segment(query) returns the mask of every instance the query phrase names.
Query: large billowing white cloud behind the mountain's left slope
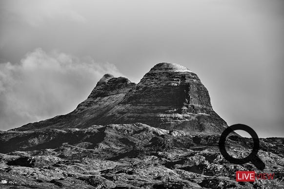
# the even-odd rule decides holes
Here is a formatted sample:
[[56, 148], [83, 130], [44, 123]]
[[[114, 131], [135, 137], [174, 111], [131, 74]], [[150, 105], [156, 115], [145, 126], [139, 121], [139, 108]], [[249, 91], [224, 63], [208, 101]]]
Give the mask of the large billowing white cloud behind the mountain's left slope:
[[41, 48], [0, 63], [0, 130], [71, 112], [106, 73], [122, 76], [113, 64]]

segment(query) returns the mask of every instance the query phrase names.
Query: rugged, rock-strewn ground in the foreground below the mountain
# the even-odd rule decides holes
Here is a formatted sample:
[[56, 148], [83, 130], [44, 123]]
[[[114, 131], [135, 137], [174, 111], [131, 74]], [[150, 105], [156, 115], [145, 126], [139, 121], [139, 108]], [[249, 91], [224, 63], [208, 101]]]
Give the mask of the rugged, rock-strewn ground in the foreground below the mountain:
[[[0, 188], [201, 189], [284, 188], [284, 138], [261, 139], [266, 168], [223, 159], [216, 133], [162, 130], [142, 123], [0, 134]], [[227, 139], [244, 157], [251, 140]], [[236, 170], [275, 173], [273, 180], [236, 182]]]

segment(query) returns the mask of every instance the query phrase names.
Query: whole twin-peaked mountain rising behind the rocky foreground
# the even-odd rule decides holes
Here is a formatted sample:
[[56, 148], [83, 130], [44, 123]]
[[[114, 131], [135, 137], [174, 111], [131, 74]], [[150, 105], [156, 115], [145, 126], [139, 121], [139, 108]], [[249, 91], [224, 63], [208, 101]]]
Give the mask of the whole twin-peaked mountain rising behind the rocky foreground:
[[213, 111], [208, 91], [195, 73], [178, 64], [159, 63], [138, 84], [106, 74], [73, 112], [14, 130], [137, 122], [188, 132], [220, 133], [227, 127]]

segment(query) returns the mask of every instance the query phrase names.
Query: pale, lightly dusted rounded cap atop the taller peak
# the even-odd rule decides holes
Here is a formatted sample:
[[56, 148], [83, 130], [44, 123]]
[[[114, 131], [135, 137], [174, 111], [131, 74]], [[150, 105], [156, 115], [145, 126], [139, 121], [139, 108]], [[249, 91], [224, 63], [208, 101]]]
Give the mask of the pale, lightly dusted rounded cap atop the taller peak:
[[175, 63], [162, 62], [151, 68], [149, 73], [159, 72], [191, 72], [188, 68]]

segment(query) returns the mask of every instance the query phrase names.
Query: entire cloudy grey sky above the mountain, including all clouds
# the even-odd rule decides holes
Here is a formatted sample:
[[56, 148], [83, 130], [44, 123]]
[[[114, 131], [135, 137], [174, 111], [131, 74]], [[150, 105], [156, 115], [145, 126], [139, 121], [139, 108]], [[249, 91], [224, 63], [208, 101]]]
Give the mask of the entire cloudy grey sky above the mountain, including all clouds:
[[172, 62], [229, 126], [284, 137], [283, 34], [283, 0], [1, 0], [0, 130], [73, 111], [106, 73], [138, 83]]

